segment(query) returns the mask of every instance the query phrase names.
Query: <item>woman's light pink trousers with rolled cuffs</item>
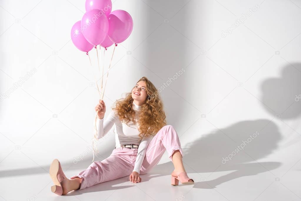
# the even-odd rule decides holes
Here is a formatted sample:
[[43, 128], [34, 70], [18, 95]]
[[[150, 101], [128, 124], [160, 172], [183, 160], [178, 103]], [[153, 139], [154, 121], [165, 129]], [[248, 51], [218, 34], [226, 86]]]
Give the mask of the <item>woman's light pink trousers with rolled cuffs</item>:
[[[180, 140], [172, 125], [163, 126], [151, 140], [146, 149], [139, 175], [146, 174], [157, 165], [165, 150], [171, 161], [175, 150], [179, 150], [183, 158]], [[70, 179], [82, 178], [78, 189], [81, 190], [105, 181], [129, 176], [134, 169], [137, 151], [138, 148], [115, 148], [108, 158], [93, 162], [87, 169]]]

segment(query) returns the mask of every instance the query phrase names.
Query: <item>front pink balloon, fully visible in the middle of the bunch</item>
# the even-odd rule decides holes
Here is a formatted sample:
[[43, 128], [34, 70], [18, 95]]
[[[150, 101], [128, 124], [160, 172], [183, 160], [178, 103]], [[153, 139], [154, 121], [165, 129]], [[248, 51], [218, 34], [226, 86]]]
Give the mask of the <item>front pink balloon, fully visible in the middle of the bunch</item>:
[[93, 45], [99, 45], [107, 36], [109, 21], [102, 11], [92, 9], [82, 17], [81, 27], [87, 41]]

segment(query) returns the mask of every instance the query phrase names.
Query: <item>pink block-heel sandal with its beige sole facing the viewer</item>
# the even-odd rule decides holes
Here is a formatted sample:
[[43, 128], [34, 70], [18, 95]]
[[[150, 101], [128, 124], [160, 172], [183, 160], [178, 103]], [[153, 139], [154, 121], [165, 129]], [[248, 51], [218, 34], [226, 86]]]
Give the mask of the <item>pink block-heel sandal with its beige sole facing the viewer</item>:
[[63, 194], [63, 188], [61, 182], [66, 178], [62, 168], [61, 163], [54, 159], [49, 168], [50, 177], [54, 183], [54, 186], [51, 186], [51, 192], [57, 195]]

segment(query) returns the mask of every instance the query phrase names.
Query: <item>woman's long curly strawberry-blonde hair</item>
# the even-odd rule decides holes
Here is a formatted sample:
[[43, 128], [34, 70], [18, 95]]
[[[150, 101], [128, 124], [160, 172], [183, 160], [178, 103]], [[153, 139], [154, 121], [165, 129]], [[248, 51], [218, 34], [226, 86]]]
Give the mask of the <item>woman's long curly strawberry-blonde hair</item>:
[[[138, 115], [139, 137], [143, 138], [143, 136], [155, 136], [157, 132], [166, 125], [166, 115], [163, 110], [163, 102], [160, 94], [154, 84], [146, 77], [140, 78], [138, 82], [140, 81], [146, 83], [147, 92], [147, 98], [145, 103], [141, 105], [141, 110], [139, 110]], [[136, 82], [136, 84], [138, 82]], [[137, 123], [135, 119], [136, 112], [132, 108], [133, 100], [132, 92], [126, 93], [126, 97], [116, 100], [114, 103], [116, 107], [112, 108], [112, 110], [117, 111], [119, 120], [126, 122], [127, 125], [130, 121], [134, 124]]]

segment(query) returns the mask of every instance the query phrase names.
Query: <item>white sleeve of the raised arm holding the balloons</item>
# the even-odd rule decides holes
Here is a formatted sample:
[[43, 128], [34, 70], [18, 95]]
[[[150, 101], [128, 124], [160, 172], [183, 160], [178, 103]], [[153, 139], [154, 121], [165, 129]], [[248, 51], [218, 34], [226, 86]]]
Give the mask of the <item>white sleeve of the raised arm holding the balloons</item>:
[[99, 119], [97, 116], [96, 120], [96, 129], [97, 129], [97, 139], [104, 137], [107, 132], [112, 128], [114, 123], [118, 120], [118, 116], [115, 113], [115, 110], [112, 110], [104, 121], [104, 118]]

